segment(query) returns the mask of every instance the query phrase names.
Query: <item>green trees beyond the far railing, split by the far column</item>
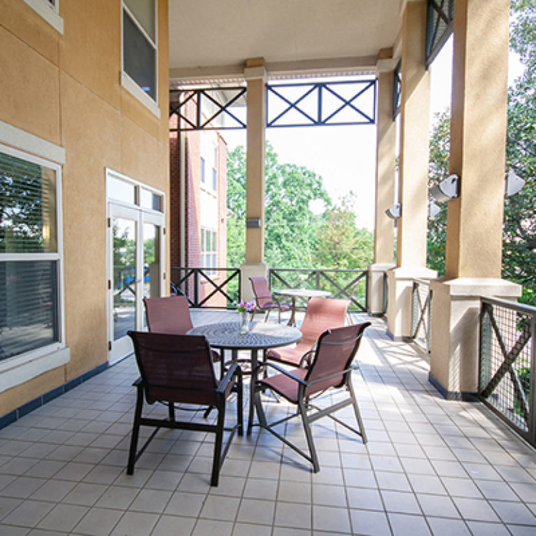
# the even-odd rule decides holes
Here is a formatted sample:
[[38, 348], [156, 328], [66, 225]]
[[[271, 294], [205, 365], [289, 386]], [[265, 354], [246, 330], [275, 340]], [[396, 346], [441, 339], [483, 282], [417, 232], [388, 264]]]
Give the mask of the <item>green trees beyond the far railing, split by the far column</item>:
[[[364, 268], [371, 262], [372, 233], [358, 230], [351, 196], [336, 207], [322, 177], [295, 164], [278, 162], [270, 144], [265, 168], [265, 259], [277, 268]], [[319, 216], [311, 202], [325, 204]], [[245, 260], [246, 154], [237, 147], [228, 155], [228, 265]]]

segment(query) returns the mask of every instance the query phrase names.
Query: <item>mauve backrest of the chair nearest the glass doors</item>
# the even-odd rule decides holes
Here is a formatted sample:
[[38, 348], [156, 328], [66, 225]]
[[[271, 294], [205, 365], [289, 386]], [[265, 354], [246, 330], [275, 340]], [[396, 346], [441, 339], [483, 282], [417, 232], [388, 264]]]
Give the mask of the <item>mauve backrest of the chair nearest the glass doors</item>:
[[144, 298], [149, 332], [184, 335], [192, 329], [188, 299], [184, 296]]

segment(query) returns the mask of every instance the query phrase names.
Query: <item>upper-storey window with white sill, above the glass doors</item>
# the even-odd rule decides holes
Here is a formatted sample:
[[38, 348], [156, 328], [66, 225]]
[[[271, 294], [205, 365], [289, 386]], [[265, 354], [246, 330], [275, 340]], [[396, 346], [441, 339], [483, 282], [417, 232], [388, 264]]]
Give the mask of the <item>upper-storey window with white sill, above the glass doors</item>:
[[157, 101], [157, 50], [155, 0], [123, 0], [122, 83], [147, 105]]

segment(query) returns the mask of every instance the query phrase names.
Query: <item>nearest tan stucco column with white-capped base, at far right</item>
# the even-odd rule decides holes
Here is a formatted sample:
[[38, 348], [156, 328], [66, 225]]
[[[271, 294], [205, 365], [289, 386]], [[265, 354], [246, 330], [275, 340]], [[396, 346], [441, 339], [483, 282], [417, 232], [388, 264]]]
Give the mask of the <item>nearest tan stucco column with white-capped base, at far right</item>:
[[445, 278], [432, 283], [430, 380], [448, 397], [478, 389], [481, 296], [516, 299], [502, 281], [509, 0], [456, 0]]

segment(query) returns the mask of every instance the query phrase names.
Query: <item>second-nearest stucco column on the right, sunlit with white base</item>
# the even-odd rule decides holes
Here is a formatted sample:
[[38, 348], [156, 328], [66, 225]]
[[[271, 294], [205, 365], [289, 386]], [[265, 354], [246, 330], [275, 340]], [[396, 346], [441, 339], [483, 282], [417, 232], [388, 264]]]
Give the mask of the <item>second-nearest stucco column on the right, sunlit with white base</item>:
[[411, 289], [415, 278], [435, 278], [426, 268], [430, 73], [426, 70], [426, 1], [405, 4], [402, 27], [400, 177], [396, 268], [388, 272], [387, 332], [411, 335]]

